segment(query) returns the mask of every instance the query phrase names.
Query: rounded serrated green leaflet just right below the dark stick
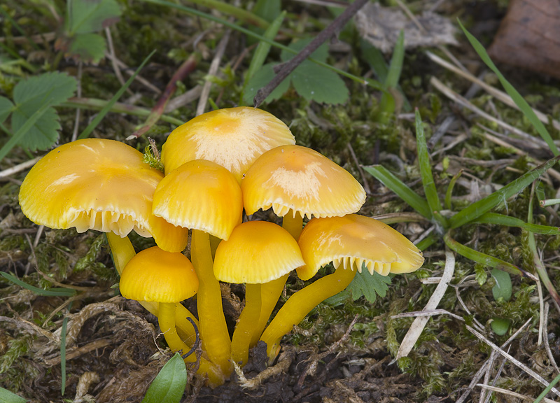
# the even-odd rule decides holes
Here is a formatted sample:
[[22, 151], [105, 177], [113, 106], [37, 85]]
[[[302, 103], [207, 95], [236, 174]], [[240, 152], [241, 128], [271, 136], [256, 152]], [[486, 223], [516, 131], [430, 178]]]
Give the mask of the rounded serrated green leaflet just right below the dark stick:
[[297, 66], [290, 77], [297, 94], [308, 101], [344, 104], [348, 100], [348, 88], [337, 73], [316, 66], [307, 60]]

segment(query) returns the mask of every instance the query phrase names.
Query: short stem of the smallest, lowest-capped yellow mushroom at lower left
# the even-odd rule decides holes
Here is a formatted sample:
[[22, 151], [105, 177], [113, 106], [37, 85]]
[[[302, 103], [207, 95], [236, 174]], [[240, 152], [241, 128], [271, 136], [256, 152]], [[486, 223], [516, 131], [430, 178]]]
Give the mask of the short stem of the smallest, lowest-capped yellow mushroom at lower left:
[[[172, 352], [180, 351], [181, 354], [188, 353], [190, 347], [183, 342], [175, 327], [175, 311], [176, 306], [181, 306], [181, 304], [175, 304], [174, 302], [160, 302], [159, 304], [159, 316], [158, 322], [160, 323], [160, 329], [162, 330], [163, 337], [167, 341], [167, 346]], [[189, 354], [183, 358], [185, 362], [196, 362], [197, 355]], [[214, 366], [208, 360], [201, 359], [200, 365], [197, 371], [199, 374], [207, 374], [210, 386], [215, 387], [222, 385], [224, 383], [224, 376], [218, 367]]]

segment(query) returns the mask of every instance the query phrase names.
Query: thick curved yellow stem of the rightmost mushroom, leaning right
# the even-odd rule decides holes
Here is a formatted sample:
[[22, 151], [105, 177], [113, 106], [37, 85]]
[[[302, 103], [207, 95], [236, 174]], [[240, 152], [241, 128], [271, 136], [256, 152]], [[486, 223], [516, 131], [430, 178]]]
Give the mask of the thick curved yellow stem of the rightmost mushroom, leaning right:
[[267, 355], [272, 363], [280, 351], [280, 341], [307, 313], [328, 297], [343, 291], [352, 281], [356, 271], [341, 265], [333, 274], [319, 278], [295, 292], [276, 313], [260, 339], [267, 344]]

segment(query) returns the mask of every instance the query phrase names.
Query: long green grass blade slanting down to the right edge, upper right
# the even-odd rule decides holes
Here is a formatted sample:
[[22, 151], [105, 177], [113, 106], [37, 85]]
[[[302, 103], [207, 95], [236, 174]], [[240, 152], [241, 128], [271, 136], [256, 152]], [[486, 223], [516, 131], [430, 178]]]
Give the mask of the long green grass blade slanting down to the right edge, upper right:
[[529, 120], [529, 122], [531, 122], [531, 125], [533, 125], [533, 127], [535, 127], [535, 129], [537, 130], [538, 134], [540, 134], [542, 139], [544, 141], [546, 141], [550, 150], [552, 151], [552, 153], [554, 153], [554, 156], [559, 155], [560, 153], [558, 151], [558, 148], [556, 148], [556, 144], [554, 144], [554, 141], [552, 141], [552, 137], [550, 136], [548, 130], [545, 127], [545, 125], [543, 125], [542, 122], [540, 120], [538, 120], [537, 115], [535, 115], [535, 112], [533, 111], [531, 106], [529, 106], [527, 101], [525, 101], [525, 99], [523, 97], [521, 97], [521, 95], [519, 94], [519, 92], [517, 92], [517, 90], [515, 90], [513, 85], [511, 85], [509, 83], [509, 81], [507, 81], [505, 79], [505, 77], [502, 75], [502, 73], [500, 73], [500, 71], [498, 70], [498, 67], [496, 67], [496, 65], [493, 64], [492, 59], [490, 59], [490, 56], [488, 55], [488, 53], [484, 49], [484, 46], [482, 46], [482, 44], [477, 40], [477, 38], [472, 36], [472, 34], [470, 34], [470, 32], [467, 31], [465, 29], [465, 27], [463, 27], [463, 24], [461, 24], [461, 21], [458, 21], [458, 23], [459, 23], [459, 26], [461, 27], [461, 29], [463, 29], [463, 32], [465, 33], [465, 36], [467, 36], [468, 41], [472, 45], [472, 48], [475, 48], [479, 57], [482, 59], [482, 61], [484, 63], [486, 63], [486, 66], [489, 66], [491, 71], [493, 71], [496, 74], [496, 76], [498, 76], [498, 80], [500, 80], [500, 83], [502, 83], [505, 92], [507, 92], [507, 94], [510, 97], [512, 97], [512, 99], [515, 102], [515, 104], [517, 105], [517, 107], [521, 110], [521, 112], [523, 112], [523, 114], [526, 116], [526, 118]]

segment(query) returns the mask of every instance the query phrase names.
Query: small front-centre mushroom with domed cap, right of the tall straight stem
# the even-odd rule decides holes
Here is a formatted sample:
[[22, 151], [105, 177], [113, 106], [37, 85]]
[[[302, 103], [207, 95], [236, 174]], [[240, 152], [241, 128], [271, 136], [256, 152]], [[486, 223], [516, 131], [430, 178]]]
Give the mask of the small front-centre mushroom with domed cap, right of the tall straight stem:
[[[262, 329], [256, 327], [261, 304], [274, 295], [263, 293], [261, 284], [274, 281], [304, 264], [300, 247], [286, 229], [266, 221], [248, 221], [233, 230], [216, 249], [214, 275], [220, 281], [245, 283], [245, 307], [232, 338], [232, 360], [245, 365], [251, 342]], [[262, 301], [262, 300], [265, 301]], [[278, 297], [274, 300], [276, 304]]]

